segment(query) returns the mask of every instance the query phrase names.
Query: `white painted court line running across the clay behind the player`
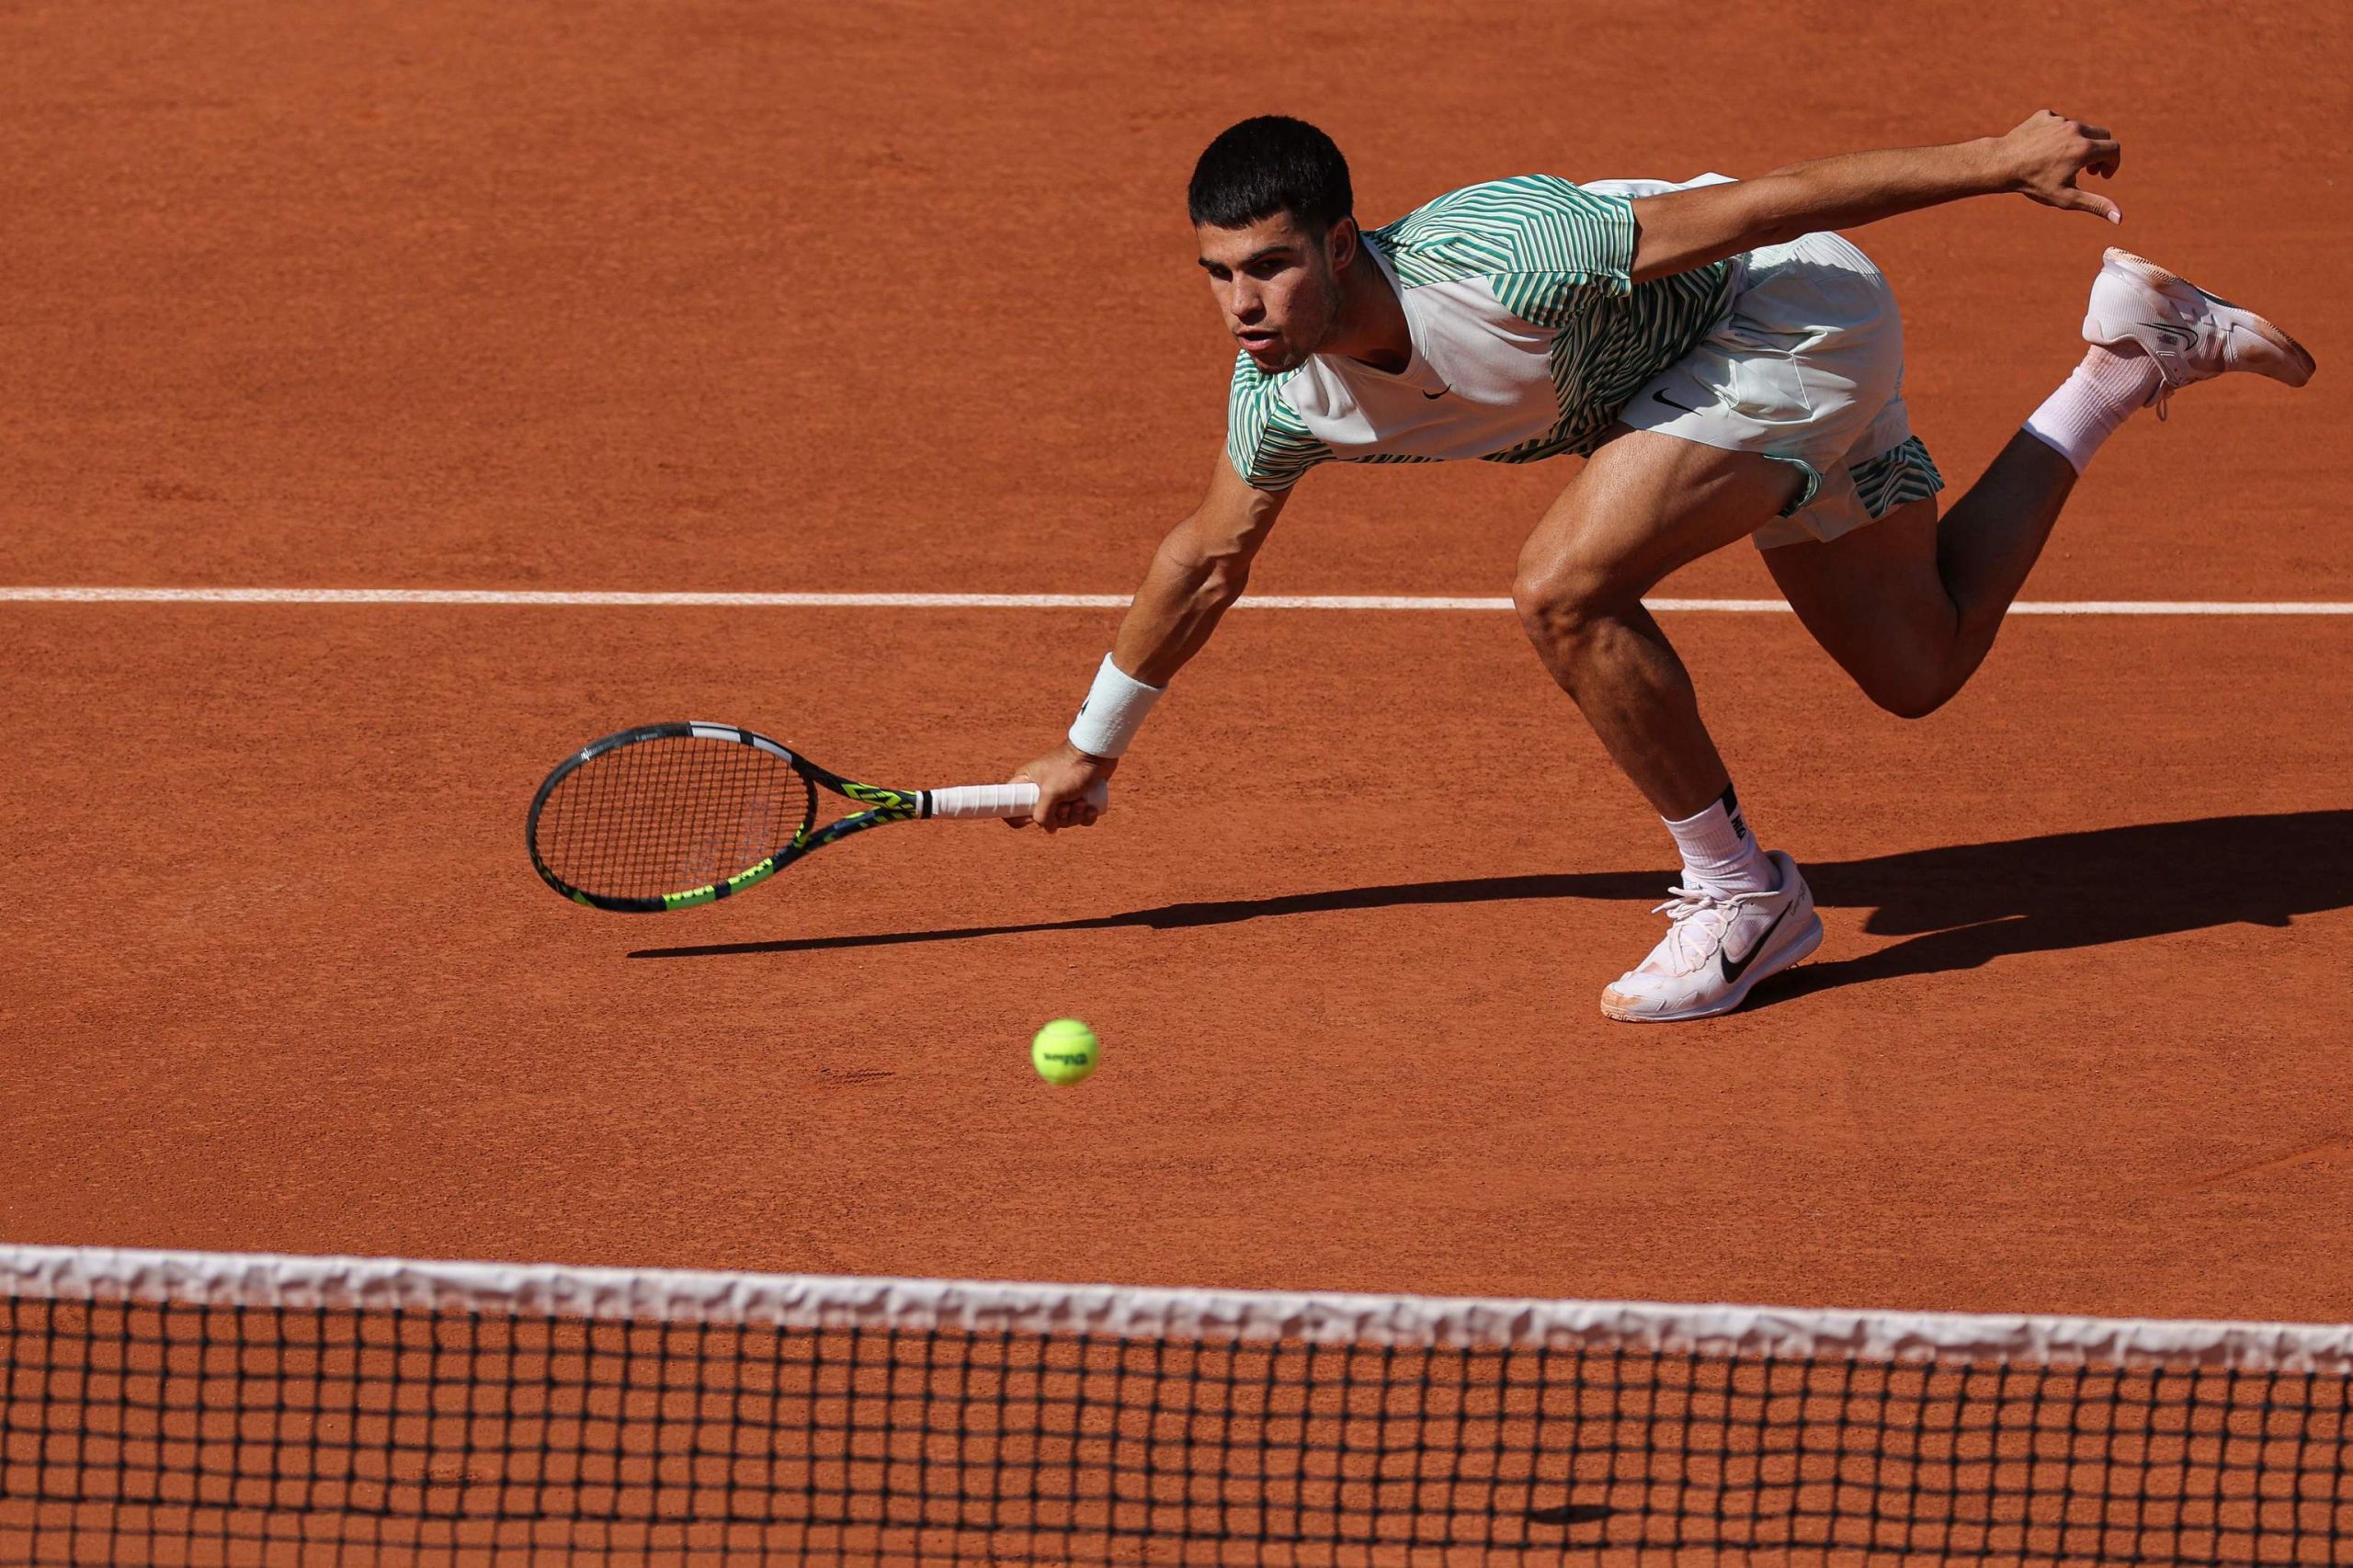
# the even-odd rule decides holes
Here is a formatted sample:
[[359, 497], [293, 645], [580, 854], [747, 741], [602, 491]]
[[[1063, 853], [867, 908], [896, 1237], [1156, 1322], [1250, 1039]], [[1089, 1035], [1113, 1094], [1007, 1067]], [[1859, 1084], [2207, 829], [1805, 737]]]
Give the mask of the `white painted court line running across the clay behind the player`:
[[[0, 589], [12, 605], [525, 605], [720, 610], [1125, 610], [1125, 593], [560, 593], [541, 589]], [[1779, 598], [1647, 598], [1652, 610], [1786, 614]], [[1417, 593], [1261, 593], [1240, 610], [1511, 610], [1508, 598]], [[2021, 600], [2012, 614], [2353, 614], [2334, 600], [2073, 598]]]

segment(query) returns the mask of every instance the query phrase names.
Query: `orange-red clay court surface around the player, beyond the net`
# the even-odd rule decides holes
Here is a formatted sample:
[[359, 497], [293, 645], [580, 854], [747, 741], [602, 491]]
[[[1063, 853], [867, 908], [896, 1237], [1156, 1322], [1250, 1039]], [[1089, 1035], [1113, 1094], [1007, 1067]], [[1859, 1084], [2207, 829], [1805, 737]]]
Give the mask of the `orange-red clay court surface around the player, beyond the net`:
[[[5, 12], [0, 582], [1127, 591], [1219, 445], [1181, 184], [1228, 120], [1325, 122], [1386, 219], [2049, 104], [2122, 132], [2122, 233], [1864, 235], [1948, 478], [2122, 240], [2322, 381], [2129, 428], [2028, 593], [2353, 598], [2332, 7], [1169, 16]], [[1501, 593], [1569, 471], [1318, 473], [1257, 586]], [[649, 921], [529, 876], [591, 735], [988, 779], [1111, 624], [0, 607], [0, 1236], [2346, 1316], [2348, 622], [2021, 622], [1904, 725], [1788, 619], [1678, 617], [1831, 928], [1692, 1029], [1593, 1010], [1666, 845], [1501, 614], [1238, 612], [1092, 836], [889, 829]], [[1026, 1062], [1061, 1012], [1080, 1090]]]

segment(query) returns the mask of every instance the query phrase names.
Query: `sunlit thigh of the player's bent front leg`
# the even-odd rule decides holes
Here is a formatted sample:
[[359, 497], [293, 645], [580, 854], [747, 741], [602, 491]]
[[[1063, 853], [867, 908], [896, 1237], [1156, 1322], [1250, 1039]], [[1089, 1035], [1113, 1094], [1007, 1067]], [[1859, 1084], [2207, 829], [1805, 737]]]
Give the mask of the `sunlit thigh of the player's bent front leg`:
[[1753, 534], [1800, 485], [1791, 464], [1755, 452], [1621, 426], [1520, 549], [1520, 607], [1529, 610], [1532, 598], [1640, 596], [1675, 567]]

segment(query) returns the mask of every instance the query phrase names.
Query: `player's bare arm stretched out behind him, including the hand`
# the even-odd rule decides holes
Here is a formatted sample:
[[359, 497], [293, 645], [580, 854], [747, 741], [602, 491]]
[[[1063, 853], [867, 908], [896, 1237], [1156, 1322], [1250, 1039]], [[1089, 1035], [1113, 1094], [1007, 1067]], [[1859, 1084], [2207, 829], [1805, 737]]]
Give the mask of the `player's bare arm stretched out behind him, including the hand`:
[[2042, 111], [2007, 137], [1842, 153], [1737, 184], [1647, 195], [1633, 202], [1633, 278], [1668, 278], [1758, 245], [1784, 245], [1800, 233], [1859, 228], [1899, 212], [2002, 191], [2115, 224], [2122, 221], [2115, 202], [2075, 188], [2075, 181], [2082, 174], [2113, 177], [2120, 158], [2106, 129]]

